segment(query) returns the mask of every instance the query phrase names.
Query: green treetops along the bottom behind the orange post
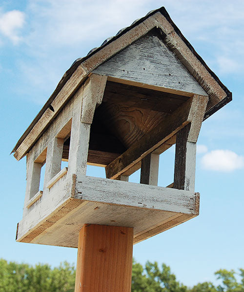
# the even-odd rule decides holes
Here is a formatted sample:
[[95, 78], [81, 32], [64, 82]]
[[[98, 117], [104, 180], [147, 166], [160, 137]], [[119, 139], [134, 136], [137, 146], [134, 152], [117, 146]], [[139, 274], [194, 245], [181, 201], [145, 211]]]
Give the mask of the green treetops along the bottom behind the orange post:
[[[133, 261], [132, 292], [244, 292], [244, 270], [219, 270], [220, 284], [203, 282], [192, 288], [176, 280], [175, 274], [163, 264], [148, 261], [145, 267]], [[237, 280], [237, 275], [238, 280]], [[63, 262], [51, 268], [46, 264], [31, 266], [0, 259], [0, 292], [74, 292], [75, 267]]]

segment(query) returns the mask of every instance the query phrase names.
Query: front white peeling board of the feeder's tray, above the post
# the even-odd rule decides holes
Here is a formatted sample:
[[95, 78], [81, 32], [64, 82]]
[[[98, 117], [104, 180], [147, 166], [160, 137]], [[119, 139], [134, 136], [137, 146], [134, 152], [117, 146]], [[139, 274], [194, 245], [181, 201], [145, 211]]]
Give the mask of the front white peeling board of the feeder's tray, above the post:
[[199, 214], [199, 193], [79, 175], [75, 199], [184, 214]]

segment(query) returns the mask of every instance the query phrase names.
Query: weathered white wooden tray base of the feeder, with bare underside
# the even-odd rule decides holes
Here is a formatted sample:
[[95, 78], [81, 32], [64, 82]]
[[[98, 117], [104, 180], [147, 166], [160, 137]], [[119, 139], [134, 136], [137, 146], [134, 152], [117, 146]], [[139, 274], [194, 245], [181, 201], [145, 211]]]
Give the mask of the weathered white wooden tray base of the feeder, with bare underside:
[[87, 176], [66, 176], [31, 204], [17, 241], [78, 247], [85, 223], [134, 228], [134, 243], [199, 214], [199, 193]]

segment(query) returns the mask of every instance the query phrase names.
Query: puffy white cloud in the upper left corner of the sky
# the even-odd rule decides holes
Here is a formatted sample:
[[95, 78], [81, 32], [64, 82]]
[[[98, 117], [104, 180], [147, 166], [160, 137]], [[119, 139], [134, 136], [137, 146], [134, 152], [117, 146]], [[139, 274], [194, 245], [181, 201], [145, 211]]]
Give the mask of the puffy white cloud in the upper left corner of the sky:
[[0, 14], [0, 33], [8, 37], [14, 44], [20, 42], [18, 30], [24, 25], [24, 13], [19, 10], [12, 10]]

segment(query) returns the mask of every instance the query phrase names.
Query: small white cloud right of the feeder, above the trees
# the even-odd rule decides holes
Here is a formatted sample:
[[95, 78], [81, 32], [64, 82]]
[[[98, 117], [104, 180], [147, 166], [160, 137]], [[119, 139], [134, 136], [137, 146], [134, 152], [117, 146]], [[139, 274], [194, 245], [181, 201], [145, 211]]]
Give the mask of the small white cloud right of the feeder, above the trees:
[[231, 172], [244, 167], [244, 156], [230, 150], [212, 150], [202, 158], [203, 168], [222, 172]]

